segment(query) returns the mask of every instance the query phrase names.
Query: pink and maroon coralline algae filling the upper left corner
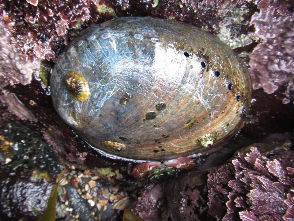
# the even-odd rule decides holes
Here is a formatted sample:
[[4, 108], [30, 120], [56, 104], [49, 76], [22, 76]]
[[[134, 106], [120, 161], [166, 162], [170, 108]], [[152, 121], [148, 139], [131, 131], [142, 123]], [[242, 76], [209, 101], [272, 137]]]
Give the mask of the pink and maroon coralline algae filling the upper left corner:
[[42, 60], [55, 61], [61, 46], [90, 18], [89, 1], [0, 3], [0, 86], [29, 84]]

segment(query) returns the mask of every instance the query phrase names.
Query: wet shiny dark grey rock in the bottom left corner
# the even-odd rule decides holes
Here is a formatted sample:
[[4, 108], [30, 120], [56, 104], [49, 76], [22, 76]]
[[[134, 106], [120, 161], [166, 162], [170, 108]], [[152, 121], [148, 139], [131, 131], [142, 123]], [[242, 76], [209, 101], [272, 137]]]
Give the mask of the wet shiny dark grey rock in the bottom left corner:
[[12, 171], [1, 165], [0, 175], [1, 219], [37, 220], [47, 205], [52, 184], [44, 179], [32, 180], [31, 171], [24, 167]]

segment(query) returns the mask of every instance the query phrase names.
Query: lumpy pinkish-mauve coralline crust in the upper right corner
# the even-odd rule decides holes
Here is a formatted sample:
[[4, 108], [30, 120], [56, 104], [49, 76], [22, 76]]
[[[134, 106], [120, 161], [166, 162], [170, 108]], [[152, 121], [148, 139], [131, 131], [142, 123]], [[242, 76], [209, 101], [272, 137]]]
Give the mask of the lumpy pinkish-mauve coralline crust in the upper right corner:
[[294, 92], [294, 14], [289, 11], [289, 4], [260, 1], [260, 12], [251, 18], [261, 41], [249, 56], [253, 88], [262, 87], [272, 94], [279, 86], [284, 86], [283, 103], [289, 103]]

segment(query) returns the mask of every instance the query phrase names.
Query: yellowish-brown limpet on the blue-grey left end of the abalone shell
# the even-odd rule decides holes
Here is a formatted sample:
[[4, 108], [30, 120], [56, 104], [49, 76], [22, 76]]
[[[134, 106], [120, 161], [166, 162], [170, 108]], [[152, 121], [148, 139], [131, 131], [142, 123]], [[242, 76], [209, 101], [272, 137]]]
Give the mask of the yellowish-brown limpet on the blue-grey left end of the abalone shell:
[[77, 72], [68, 72], [65, 76], [65, 87], [70, 96], [77, 101], [85, 101], [90, 95], [88, 83]]

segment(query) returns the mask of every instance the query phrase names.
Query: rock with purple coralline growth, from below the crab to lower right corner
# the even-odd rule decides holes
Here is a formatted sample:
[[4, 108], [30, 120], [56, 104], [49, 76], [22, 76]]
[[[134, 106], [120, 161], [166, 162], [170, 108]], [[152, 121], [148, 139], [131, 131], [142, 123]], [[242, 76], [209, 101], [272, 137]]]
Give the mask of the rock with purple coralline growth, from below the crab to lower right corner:
[[251, 147], [223, 166], [149, 186], [134, 211], [146, 220], [293, 220], [293, 156]]

